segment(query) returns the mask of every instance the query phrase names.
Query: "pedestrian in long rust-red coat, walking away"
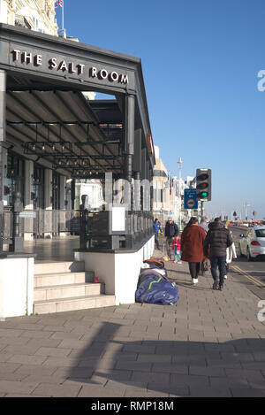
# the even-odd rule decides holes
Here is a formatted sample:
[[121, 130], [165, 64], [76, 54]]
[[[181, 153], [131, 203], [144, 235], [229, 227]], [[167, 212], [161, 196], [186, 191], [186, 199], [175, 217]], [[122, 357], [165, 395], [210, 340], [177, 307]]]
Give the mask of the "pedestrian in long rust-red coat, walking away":
[[188, 262], [193, 284], [198, 283], [203, 255], [205, 231], [199, 227], [198, 219], [192, 218], [181, 235], [181, 259]]

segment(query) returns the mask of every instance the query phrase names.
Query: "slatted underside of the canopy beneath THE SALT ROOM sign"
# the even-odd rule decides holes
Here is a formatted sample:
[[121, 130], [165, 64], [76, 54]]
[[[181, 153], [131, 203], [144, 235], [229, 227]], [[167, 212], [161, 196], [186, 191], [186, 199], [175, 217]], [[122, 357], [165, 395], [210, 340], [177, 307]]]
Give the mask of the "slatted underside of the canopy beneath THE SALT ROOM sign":
[[[96, 105], [101, 106], [90, 105], [80, 92], [9, 90], [6, 140], [19, 144], [25, 155], [43, 158], [70, 175], [78, 168], [89, 176], [90, 172], [121, 173], [122, 114], [112, 101], [108, 119], [102, 123], [93, 111]], [[104, 108], [108, 113], [108, 103]]]

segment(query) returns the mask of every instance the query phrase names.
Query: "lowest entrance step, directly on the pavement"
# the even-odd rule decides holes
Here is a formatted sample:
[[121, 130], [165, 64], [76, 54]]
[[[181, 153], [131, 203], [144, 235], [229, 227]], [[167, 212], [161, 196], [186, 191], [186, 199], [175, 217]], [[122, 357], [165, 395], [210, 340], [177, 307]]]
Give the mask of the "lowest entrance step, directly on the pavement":
[[48, 314], [51, 312], [77, 311], [84, 309], [110, 307], [116, 305], [115, 296], [80, 296], [59, 298], [34, 303], [34, 314]]

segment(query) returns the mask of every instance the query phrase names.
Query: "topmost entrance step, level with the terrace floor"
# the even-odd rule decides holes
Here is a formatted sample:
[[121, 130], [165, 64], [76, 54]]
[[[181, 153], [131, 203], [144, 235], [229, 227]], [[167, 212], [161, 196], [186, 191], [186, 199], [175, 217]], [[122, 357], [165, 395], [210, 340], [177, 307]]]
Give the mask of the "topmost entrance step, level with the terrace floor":
[[43, 273], [80, 273], [85, 271], [84, 261], [49, 262], [34, 265], [34, 275]]

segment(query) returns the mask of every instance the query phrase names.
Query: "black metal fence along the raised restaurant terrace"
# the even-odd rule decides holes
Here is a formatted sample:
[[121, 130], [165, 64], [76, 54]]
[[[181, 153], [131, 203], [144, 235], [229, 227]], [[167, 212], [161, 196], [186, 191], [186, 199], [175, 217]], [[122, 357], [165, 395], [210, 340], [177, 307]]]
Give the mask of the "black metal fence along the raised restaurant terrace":
[[79, 235], [82, 250], [133, 249], [153, 234], [153, 216], [149, 211], [127, 212], [125, 233], [111, 234], [109, 211], [14, 211], [13, 206], [6, 206], [0, 212], [0, 239], [5, 251], [23, 251], [25, 234], [37, 239], [62, 233]]

